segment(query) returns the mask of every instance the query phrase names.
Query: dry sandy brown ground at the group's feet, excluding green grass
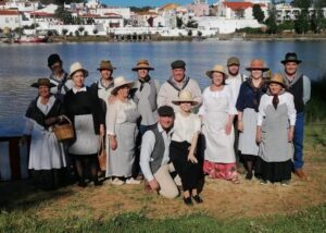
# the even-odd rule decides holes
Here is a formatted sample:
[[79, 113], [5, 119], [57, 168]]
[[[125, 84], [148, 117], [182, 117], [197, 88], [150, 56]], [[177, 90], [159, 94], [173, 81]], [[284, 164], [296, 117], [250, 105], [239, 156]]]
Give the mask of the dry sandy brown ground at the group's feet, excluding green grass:
[[109, 219], [120, 213], [138, 212], [150, 218], [178, 217], [196, 212], [216, 219], [241, 219], [288, 214], [326, 203], [325, 155], [315, 154], [306, 162], [308, 181], [292, 176], [289, 186], [261, 185], [255, 179], [233, 184], [205, 179], [201, 194], [204, 203], [187, 207], [183, 198], [165, 199], [146, 192], [143, 184], [79, 188], [76, 185], [55, 192], [36, 191], [28, 182], [0, 184], [0, 206], [9, 211], [23, 210], [40, 219], [79, 217]]

